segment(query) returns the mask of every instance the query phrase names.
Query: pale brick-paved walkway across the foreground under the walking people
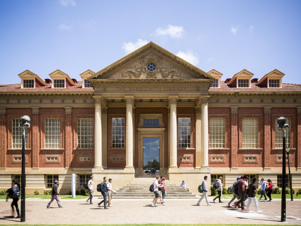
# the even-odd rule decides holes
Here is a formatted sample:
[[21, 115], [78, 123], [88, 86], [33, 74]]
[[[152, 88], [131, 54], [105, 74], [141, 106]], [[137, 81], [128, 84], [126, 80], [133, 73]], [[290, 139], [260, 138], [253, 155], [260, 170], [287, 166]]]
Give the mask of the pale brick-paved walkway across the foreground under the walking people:
[[[141, 224], [159, 222], [161, 216], [166, 224], [301, 224], [301, 199], [287, 201], [287, 219], [280, 222], [281, 200], [272, 202], [259, 201], [262, 214], [246, 213], [240, 209], [228, 208], [230, 199], [222, 199], [223, 203], [207, 206], [202, 200], [197, 206], [197, 199], [166, 199], [166, 206], [151, 207], [152, 199], [112, 199], [112, 206], [104, 210], [98, 207], [101, 199], [94, 199], [93, 205], [84, 199], [62, 199], [64, 208], [58, 208], [56, 201], [46, 209], [47, 199], [26, 199], [26, 222], [24, 224]], [[20, 207], [20, 201], [18, 202]], [[246, 203], [247, 204], [247, 203]], [[11, 200], [0, 199], [0, 224], [23, 224], [19, 219], [8, 218], [11, 215]], [[252, 203], [250, 210], [255, 211]], [[15, 212], [16, 215], [16, 212]]]

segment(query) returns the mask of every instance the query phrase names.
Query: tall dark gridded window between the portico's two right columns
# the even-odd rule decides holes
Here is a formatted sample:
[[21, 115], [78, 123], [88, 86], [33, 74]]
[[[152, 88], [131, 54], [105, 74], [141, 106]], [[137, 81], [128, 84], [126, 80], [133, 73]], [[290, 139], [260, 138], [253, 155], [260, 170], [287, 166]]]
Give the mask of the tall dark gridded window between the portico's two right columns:
[[178, 148], [190, 148], [190, 118], [178, 118]]

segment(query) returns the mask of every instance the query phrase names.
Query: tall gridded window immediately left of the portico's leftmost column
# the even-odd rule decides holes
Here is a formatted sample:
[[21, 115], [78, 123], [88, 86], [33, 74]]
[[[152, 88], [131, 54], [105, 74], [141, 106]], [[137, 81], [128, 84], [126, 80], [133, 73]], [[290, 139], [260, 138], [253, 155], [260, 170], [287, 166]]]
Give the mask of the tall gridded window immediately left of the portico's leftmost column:
[[93, 118], [77, 119], [78, 148], [93, 148]]

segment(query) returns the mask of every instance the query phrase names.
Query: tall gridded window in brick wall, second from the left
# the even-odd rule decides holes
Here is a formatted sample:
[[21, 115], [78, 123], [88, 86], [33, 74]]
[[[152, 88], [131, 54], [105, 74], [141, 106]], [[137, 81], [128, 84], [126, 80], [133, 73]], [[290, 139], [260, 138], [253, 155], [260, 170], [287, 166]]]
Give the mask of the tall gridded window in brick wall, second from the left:
[[45, 148], [61, 147], [61, 119], [45, 118]]

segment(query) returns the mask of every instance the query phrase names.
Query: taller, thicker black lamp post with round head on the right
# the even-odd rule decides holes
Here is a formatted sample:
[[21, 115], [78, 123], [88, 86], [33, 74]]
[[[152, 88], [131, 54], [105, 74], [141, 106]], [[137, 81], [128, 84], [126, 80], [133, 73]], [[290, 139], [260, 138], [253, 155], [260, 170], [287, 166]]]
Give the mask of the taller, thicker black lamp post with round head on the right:
[[277, 120], [278, 130], [283, 132], [283, 148], [282, 148], [282, 190], [281, 190], [281, 222], [286, 221], [286, 195], [285, 195], [285, 171], [286, 171], [286, 160], [285, 160], [285, 135], [286, 130], [289, 130], [290, 127], [286, 124], [287, 119], [280, 117]]

